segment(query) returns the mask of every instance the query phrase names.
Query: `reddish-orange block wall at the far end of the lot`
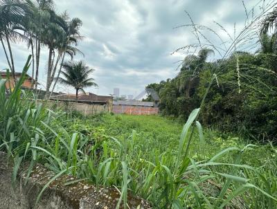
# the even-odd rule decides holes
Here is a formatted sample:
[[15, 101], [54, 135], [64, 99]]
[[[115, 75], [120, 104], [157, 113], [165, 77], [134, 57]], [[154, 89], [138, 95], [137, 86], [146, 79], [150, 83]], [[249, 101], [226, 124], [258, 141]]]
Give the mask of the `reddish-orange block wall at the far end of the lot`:
[[113, 113], [125, 113], [129, 115], [157, 115], [159, 113], [158, 107], [143, 107], [131, 105], [114, 105]]

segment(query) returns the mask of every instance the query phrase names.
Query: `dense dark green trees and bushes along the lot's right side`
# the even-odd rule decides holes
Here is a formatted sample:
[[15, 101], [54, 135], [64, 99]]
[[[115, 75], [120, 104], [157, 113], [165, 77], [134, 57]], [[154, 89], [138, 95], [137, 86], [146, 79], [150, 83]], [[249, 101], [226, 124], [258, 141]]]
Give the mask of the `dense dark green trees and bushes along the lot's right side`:
[[176, 78], [148, 85], [161, 97], [161, 113], [185, 121], [190, 111], [199, 107], [213, 80], [202, 109], [202, 124], [236, 131], [263, 142], [276, 140], [276, 54], [235, 53], [218, 61], [224, 62], [220, 69], [218, 62], [204, 62], [195, 71], [193, 65], [201, 63], [199, 58], [204, 52], [200, 51], [197, 57], [186, 57], [186, 66], [183, 65]]

